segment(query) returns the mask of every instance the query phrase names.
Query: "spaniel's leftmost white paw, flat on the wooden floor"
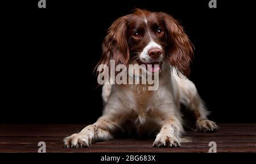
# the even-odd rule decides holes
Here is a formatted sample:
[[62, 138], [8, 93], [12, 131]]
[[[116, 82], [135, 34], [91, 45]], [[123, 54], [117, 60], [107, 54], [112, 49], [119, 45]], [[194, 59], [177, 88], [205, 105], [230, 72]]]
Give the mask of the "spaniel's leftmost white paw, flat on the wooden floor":
[[92, 136], [86, 133], [75, 133], [63, 140], [64, 148], [82, 148], [92, 145]]

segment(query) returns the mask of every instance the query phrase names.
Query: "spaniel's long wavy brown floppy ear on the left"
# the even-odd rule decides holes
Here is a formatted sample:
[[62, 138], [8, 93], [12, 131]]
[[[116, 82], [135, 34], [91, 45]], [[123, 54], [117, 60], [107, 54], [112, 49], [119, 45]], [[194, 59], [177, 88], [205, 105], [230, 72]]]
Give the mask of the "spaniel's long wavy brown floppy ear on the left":
[[[126, 39], [127, 32], [127, 20], [126, 16], [118, 18], [108, 29], [108, 33], [102, 43], [102, 55], [100, 64], [106, 64], [110, 68], [110, 60], [115, 61], [115, 66], [117, 64], [127, 65], [129, 62], [129, 46]], [[96, 66], [96, 67], [97, 67]]]

